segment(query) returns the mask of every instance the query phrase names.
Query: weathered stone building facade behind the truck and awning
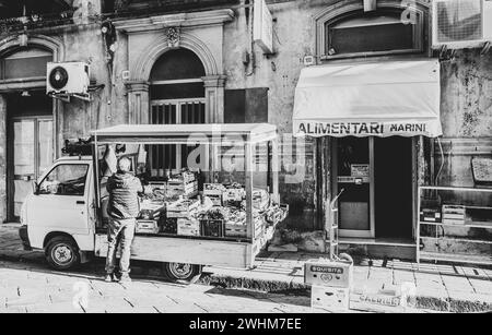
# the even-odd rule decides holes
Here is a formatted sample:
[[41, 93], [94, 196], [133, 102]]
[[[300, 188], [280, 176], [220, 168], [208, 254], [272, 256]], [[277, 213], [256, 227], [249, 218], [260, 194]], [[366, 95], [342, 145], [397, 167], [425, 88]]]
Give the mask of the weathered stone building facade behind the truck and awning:
[[[31, 180], [62, 154], [67, 139], [120, 123], [277, 124], [282, 201], [292, 208], [289, 227], [300, 231], [321, 230], [345, 189], [347, 238], [412, 240], [419, 184], [473, 186], [471, 157], [492, 155], [492, 62], [481, 49], [433, 51], [431, 1], [267, 0], [268, 53], [254, 40], [254, 2], [0, 1], [2, 219], [19, 216]], [[440, 143], [292, 135], [306, 67], [421, 59], [440, 61]], [[48, 61], [90, 63], [92, 99], [48, 98]], [[356, 190], [338, 178], [348, 153], [375, 174]], [[176, 153], [166, 155], [180, 166]]]

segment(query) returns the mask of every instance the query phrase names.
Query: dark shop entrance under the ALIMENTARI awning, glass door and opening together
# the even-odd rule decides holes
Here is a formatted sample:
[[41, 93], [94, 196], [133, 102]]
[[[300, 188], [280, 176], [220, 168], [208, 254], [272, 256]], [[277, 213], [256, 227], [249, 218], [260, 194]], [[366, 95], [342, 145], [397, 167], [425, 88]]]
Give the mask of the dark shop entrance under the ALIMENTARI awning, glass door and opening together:
[[336, 139], [333, 191], [340, 236], [410, 239], [413, 223], [413, 140]]

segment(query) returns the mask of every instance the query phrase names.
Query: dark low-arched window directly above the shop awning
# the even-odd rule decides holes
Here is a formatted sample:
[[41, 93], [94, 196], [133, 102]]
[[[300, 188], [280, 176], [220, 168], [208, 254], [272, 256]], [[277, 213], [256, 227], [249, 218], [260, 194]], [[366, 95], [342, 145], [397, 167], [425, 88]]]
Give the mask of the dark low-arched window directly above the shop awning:
[[423, 52], [423, 20], [420, 12], [405, 20], [401, 10], [361, 11], [324, 22], [323, 59]]

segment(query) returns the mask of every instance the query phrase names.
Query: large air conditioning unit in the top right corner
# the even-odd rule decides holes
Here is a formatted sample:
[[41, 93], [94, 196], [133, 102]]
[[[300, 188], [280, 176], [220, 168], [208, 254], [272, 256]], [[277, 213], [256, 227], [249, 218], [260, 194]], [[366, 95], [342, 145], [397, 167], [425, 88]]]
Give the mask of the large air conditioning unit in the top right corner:
[[492, 40], [492, 0], [433, 0], [432, 47], [477, 48]]

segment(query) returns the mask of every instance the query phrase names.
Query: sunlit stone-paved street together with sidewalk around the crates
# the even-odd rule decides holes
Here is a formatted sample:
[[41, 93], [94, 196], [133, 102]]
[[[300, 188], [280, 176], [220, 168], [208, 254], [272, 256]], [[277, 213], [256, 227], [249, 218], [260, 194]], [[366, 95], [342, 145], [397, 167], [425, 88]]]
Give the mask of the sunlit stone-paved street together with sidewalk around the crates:
[[[16, 225], [0, 227], [0, 312], [312, 312], [304, 262], [316, 254], [270, 253], [250, 271], [206, 267], [200, 285], [164, 282], [157, 263], [133, 262], [131, 286], [102, 280], [102, 260], [78, 272], [49, 270], [43, 252], [23, 251]], [[492, 270], [399, 260], [358, 260], [354, 288], [413, 283], [419, 308], [483, 311], [492, 304]], [[89, 307], [73, 308], [74, 297]], [[82, 296], [81, 296], [82, 295]]]

